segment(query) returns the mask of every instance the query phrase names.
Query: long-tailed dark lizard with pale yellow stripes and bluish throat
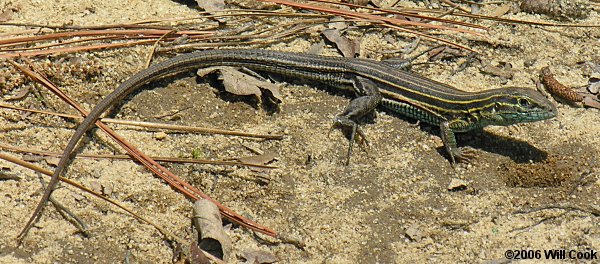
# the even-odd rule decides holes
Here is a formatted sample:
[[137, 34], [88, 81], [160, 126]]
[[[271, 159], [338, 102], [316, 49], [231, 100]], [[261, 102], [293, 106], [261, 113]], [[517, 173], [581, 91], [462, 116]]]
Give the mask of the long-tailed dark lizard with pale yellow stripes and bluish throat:
[[[439, 126], [441, 138], [452, 163], [468, 160], [473, 153], [459, 148], [454, 132], [488, 125], [507, 126], [540, 121], [556, 116], [554, 105], [533, 89], [499, 88], [465, 92], [414, 73], [401, 71], [392, 63], [367, 59], [334, 58], [269, 50], [211, 50], [183, 54], [154, 64], [133, 75], [106, 96], [79, 125], [71, 137], [44, 195], [22, 234], [37, 218], [72, 158], [85, 132], [108, 108], [145, 84], [202, 67], [233, 66], [311, 80], [354, 91], [357, 98], [336, 116], [334, 124], [352, 128], [357, 120], [382, 105], [389, 111]], [[349, 154], [350, 155], [349, 150]]]

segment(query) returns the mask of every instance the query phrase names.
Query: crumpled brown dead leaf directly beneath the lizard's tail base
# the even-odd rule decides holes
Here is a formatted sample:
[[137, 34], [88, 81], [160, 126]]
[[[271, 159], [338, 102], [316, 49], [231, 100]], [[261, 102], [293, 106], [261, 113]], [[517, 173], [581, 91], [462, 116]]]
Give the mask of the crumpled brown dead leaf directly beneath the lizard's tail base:
[[204, 77], [212, 72], [219, 72], [221, 74], [225, 91], [232, 94], [254, 95], [260, 100], [262, 95], [260, 89], [262, 88], [271, 92], [273, 98], [277, 99], [278, 102], [283, 100], [283, 96], [279, 91], [279, 86], [276, 84], [259, 80], [253, 76], [242, 73], [233, 67], [208, 67], [199, 69], [197, 74], [200, 77]]

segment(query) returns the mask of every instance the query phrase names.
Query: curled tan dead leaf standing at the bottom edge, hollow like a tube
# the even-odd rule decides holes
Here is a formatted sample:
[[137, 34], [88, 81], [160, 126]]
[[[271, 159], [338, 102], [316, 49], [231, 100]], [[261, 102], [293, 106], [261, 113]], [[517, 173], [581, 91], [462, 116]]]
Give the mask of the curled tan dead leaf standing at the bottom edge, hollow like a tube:
[[198, 231], [198, 246], [209, 254], [224, 261], [231, 254], [231, 239], [225, 233], [219, 208], [208, 200], [194, 203], [192, 223]]

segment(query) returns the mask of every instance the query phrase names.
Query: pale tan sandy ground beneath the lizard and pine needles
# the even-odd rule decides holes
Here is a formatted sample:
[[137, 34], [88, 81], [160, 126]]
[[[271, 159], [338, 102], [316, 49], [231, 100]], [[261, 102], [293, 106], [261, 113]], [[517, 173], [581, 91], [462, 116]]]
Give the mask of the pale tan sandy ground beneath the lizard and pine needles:
[[[3, 2], [0, 8], [10, 4]], [[15, 22], [75, 25], [126, 23], [197, 12], [191, 5], [169, 0], [132, 0], [127, 4], [116, 0], [23, 0], [18, 6]], [[486, 6], [482, 11], [496, 8]], [[551, 21], [523, 13], [506, 17]], [[600, 24], [600, 19], [593, 11], [589, 18], [577, 22]], [[533, 88], [532, 79], [547, 65], [563, 83], [581, 86], [591, 73], [589, 65], [600, 63], [598, 28], [481, 24], [491, 28], [486, 40], [460, 35], [457, 41], [480, 51], [479, 58], [485, 63], [511, 64], [512, 78], [484, 74], [482, 63], [454, 74], [452, 70], [464, 59], [414, 70], [474, 91], [503, 86]], [[0, 33], [17, 30], [22, 28], [0, 26]], [[375, 59], [389, 56], [380, 51], [400, 50], [412, 41], [381, 29], [360, 28], [352, 36], [362, 37], [361, 57]], [[302, 35], [259, 48], [302, 52], [318, 41], [319, 36]], [[68, 54], [40, 58], [36, 63], [68, 63], [77, 57], [96, 68], [91, 78], [74, 73], [52, 77], [91, 108], [142, 69], [149, 49], [140, 46]], [[328, 45], [324, 53], [335, 54], [336, 50]], [[379, 112], [375, 122], [364, 126], [372, 143], [368, 153], [357, 151], [351, 165], [343, 166], [347, 141], [341, 133], [327, 135], [327, 131], [334, 115], [347, 104], [347, 97], [311, 86], [287, 85], [282, 90], [281, 110], [270, 113], [255, 101], [232, 99], [205, 82], [197, 84], [191, 75], [152, 87], [155, 89], [131, 97], [117, 116], [255, 133], [283, 131], [286, 135], [280, 141], [179, 133], [161, 139], [153, 132], [113, 126], [149, 155], [189, 157], [192, 151], [206, 158], [252, 155], [247, 146], [278, 155], [274, 165], [280, 168], [267, 173], [168, 165], [236, 212], [305, 243], [304, 248], [298, 248], [234, 227], [228, 231], [234, 246], [231, 262], [242, 262], [241, 252], [256, 249], [275, 254], [281, 263], [502, 263], [507, 250], [540, 250], [542, 260], [537, 261], [541, 263], [546, 262], [544, 250], [600, 251], [598, 110], [561, 104], [558, 117], [552, 120], [462, 135], [460, 144], [478, 149], [479, 158], [456, 169], [444, 156], [435, 128], [415, 126], [414, 121]], [[14, 91], [5, 93], [8, 96]], [[44, 105], [35, 96], [11, 103], [73, 113], [48, 92], [42, 94]], [[75, 126], [66, 119], [2, 112], [1, 142], [21, 147], [61, 151]], [[94, 134], [81, 153], [122, 152], [102, 133]], [[43, 161], [38, 163], [53, 168]], [[84, 238], [48, 206], [23, 245], [15, 247], [15, 237], [42, 189], [32, 171], [5, 161], [0, 165], [20, 177], [18, 181], [0, 181], [0, 262], [171, 262], [173, 246], [154, 228], [72, 187], [61, 188], [54, 195], [86, 221], [91, 236]], [[72, 164], [67, 177], [112, 189], [111, 198], [181, 237], [192, 237], [191, 203], [134, 162], [81, 159]], [[257, 177], [269, 181], [259, 184], [252, 180]], [[462, 181], [465, 187], [449, 191], [453, 180]], [[533, 210], [536, 208], [544, 209]], [[517, 213], [519, 210], [527, 212]]]

